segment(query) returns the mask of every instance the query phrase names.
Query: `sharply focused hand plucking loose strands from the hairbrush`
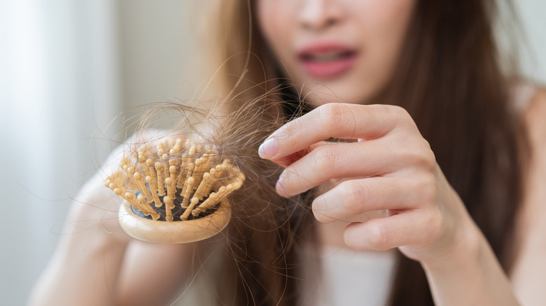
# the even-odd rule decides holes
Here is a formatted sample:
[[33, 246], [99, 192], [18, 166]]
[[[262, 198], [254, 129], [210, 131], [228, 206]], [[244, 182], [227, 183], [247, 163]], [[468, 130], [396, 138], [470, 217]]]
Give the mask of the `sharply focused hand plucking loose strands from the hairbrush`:
[[[323, 141], [331, 137], [358, 142]], [[322, 105], [272, 133], [259, 154], [286, 168], [276, 184], [281, 196], [339, 182], [313, 201], [318, 221], [387, 211], [388, 217], [346, 227], [344, 240], [353, 249], [399, 247], [426, 261], [468, 251], [479, 236], [427, 141], [397, 106]]]

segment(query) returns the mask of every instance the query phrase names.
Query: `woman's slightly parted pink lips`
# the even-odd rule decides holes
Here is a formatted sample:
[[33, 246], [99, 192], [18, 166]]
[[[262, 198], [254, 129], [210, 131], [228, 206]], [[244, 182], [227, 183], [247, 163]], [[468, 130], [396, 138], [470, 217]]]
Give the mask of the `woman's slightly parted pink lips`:
[[298, 59], [307, 74], [321, 80], [348, 72], [355, 66], [357, 57], [356, 49], [339, 43], [316, 43], [298, 52]]

